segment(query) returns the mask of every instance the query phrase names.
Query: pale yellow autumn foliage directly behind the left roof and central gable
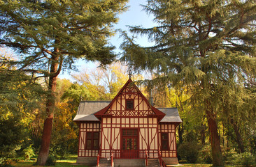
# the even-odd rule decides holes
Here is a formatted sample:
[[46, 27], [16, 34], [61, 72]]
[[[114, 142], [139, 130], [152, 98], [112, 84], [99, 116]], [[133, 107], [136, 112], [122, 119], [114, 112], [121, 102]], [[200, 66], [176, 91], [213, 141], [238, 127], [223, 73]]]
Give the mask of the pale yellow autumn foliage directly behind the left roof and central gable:
[[[74, 75], [74, 79], [87, 90], [87, 97], [83, 100], [112, 100], [129, 79], [128, 67], [118, 62], [83, 71]], [[136, 81], [142, 77], [136, 74], [132, 79]]]

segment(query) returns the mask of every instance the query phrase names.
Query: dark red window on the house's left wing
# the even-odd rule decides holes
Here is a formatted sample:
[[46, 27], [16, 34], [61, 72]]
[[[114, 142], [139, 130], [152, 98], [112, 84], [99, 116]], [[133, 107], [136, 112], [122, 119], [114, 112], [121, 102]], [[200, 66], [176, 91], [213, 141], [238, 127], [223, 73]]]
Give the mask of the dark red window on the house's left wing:
[[99, 150], [99, 132], [86, 133], [86, 150]]

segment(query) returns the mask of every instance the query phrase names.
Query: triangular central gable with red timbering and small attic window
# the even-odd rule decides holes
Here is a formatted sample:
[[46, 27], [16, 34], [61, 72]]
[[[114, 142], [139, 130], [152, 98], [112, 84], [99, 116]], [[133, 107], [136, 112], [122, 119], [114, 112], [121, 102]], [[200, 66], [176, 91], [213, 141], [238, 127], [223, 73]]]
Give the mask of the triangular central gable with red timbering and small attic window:
[[165, 116], [155, 107], [151, 106], [131, 79], [127, 81], [108, 106], [94, 116], [101, 119], [102, 116], [117, 117], [146, 117], [155, 116], [160, 120]]

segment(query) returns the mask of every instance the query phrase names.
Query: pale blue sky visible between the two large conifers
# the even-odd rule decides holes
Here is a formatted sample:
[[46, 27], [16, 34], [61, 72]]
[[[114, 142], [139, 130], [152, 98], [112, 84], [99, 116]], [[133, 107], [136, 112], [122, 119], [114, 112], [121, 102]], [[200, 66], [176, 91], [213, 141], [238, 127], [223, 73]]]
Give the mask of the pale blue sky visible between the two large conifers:
[[[127, 26], [143, 26], [143, 28], [150, 28], [152, 26], [155, 26], [155, 23], [152, 21], [153, 17], [152, 15], [147, 15], [147, 13], [143, 10], [143, 7], [141, 4], [145, 5], [147, 4], [146, 0], [129, 0], [129, 3], [127, 3], [127, 6], [129, 6], [129, 9], [120, 14], [119, 16], [119, 22], [118, 24], [115, 24], [115, 29], [122, 29], [125, 31], [128, 31]], [[116, 47], [115, 53], [120, 53], [120, 45], [122, 43], [122, 38], [119, 37], [120, 34], [117, 33], [113, 38], [111, 38], [111, 44]], [[148, 46], [150, 45], [150, 42], [145, 37], [138, 38], [136, 42], [139, 45], [142, 46]], [[83, 71], [88, 68], [95, 68], [97, 67], [97, 63], [92, 62], [85, 62], [85, 61], [78, 61], [76, 64], [76, 67], [79, 71]], [[69, 74], [69, 72], [62, 72], [59, 74], [59, 78], [61, 79], [71, 79], [71, 74], [74, 74], [76, 72], [72, 72]]]

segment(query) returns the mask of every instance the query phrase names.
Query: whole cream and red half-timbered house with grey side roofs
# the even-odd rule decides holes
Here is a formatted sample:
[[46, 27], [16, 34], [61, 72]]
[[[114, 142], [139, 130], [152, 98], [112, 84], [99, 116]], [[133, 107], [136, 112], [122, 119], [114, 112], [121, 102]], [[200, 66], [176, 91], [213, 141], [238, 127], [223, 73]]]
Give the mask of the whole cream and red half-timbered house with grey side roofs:
[[156, 109], [131, 79], [111, 101], [82, 101], [78, 164], [166, 166], [178, 164], [176, 108]]

